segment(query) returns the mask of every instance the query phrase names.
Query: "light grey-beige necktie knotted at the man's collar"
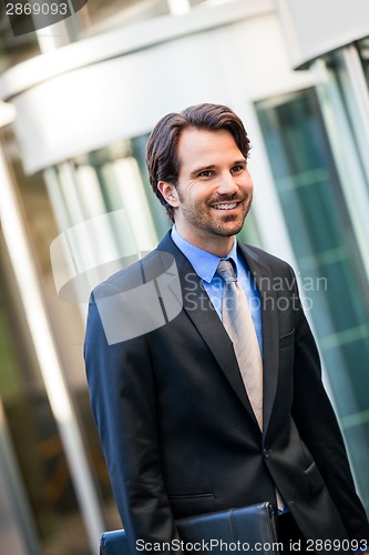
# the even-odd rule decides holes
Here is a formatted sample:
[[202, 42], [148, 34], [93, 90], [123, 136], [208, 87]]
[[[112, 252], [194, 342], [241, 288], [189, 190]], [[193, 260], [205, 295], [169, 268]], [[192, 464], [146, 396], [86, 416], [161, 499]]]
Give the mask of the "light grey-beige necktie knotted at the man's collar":
[[263, 430], [263, 361], [247, 299], [229, 260], [221, 260], [217, 273], [225, 281], [223, 324], [233, 341], [248, 400]]

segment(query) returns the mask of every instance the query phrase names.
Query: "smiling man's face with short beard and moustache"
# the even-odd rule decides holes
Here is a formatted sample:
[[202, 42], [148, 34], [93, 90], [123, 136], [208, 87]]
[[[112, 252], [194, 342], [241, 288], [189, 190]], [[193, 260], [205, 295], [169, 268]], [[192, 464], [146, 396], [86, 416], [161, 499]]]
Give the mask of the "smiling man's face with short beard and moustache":
[[222, 251], [230, 249], [253, 198], [245, 157], [228, 131], [198, 129], [182, 132], [177, 154], [178, 183], [172, 192], [177, 196], [174, 208], [180, 233], [216, 254], [215, 245]]

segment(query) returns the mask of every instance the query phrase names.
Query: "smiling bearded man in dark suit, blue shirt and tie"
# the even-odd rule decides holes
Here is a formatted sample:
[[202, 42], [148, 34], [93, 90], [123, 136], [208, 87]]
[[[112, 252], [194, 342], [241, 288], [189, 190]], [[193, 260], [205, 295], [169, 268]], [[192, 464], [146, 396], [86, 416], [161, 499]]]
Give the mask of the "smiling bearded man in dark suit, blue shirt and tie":
[[[365, 551], [369, 539], [293, 270], [235, 238], [253, 199], [248, 151], [226, 107], [164, 117], [147, 167], [175, 225], [92, 295], [91, 402], [133, 553], [139, 539], [178, 538], [176, 518], [265, 501], [281, 514], [285, 553], [291, 538], [309, 539], [316, 553], [332, 551], [330, 541], [336, 553]], [[146, 322], [146, 302], [134, 296], [155, 283], [165, 312], [161, 264], [173, 282], [177, 272], [183, 303], [162, 324], [151, 309]]]

